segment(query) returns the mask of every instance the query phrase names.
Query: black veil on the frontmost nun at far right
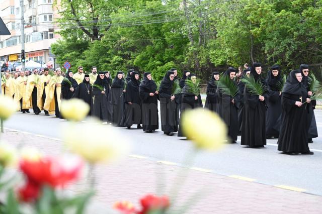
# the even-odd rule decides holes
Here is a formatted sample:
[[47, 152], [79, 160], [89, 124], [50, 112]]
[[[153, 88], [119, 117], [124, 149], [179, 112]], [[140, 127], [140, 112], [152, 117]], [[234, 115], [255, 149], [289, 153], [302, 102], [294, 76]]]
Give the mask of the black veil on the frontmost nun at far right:
[[301, 73], [300, 70], [292, 70], [288, 75], [282, 93], [301, 95], [302, 91], [306, 91], [304, 85], [296, 79], [295, 74]]

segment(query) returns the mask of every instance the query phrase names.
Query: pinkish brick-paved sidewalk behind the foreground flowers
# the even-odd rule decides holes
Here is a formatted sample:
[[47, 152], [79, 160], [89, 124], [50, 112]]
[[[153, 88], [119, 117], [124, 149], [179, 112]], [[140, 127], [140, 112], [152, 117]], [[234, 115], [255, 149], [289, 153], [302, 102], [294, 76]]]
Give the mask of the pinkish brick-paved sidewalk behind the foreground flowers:
[[[33, 146], [48, 155], [59, 155], [63, 151], [62, 142], [32, 134], [5, 130], [1, 139], [14, 145]], [[170, 194], [172, 184], [182, 167], [159, 163], [140, 156], [127, 156], [113, 164], [98, 166], [96, 199], [110, 208], [116, 201], [128, 200], [138, 205], [139, 198], [147, 193], [157, 193], [160, 185], [163, 194]], [[185, 182], [180, 182], [175, 210], [180, 209], [195, 192], [185, 213], [321, 213], [322, 196], [291, 191], [240, 180], [204, 171], [187, 169]], [[300, 173], [300, 172], [299, 172]], [[78, 191], [85, 186], [82, 180], [72, 189]], [[198, 200], [197, 200], [198, 199]]]

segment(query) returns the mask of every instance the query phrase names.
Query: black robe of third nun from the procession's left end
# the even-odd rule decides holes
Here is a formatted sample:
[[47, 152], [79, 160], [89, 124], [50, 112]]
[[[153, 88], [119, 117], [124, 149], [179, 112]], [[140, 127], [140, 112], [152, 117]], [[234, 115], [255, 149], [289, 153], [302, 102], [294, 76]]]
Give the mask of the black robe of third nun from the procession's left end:
[[[98, 77], [100, 76], [98, 75]], [[106, 94], [103, 94], [102, 90], [95, 86], [92, 89], [91, 110], [91, 114], [93, 117], [97, 117], [101, 121], [107, 122]]]

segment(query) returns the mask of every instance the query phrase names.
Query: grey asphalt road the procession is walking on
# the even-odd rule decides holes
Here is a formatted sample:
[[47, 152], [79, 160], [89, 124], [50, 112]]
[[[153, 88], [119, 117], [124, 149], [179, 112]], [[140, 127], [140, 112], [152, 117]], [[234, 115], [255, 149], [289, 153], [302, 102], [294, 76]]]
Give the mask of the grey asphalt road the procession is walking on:
[[[322, 195], [322, 111], [315, 110], [315, 117], [320, 137], [309, 144], [314, 155], [281, 154], [277, 151], [277, 139], [268, 140], [265, 148], [247, 148], [240, 146], [238, 137], [237, 144], [229, 144], [219, 152], [200, 152], [192, 166], [210, 170], [212, 173], [245, 177], [268, 185], [286, 185]], [[65, 120], [53, 116], [45, 117], [43, 113], [39, 116], [17, 113], [5, 122], [5, 128], [59, 139], [61, 129], [66, 123]], [[152, 160], [185, 165], [183, 158], [192, 149], [190, 141], [177, 136], [166, 136], [161, 131], [143, 133], [134, 126], [131, 130], [114, 129], [119, 129], [132, 139], [132, 154]]]

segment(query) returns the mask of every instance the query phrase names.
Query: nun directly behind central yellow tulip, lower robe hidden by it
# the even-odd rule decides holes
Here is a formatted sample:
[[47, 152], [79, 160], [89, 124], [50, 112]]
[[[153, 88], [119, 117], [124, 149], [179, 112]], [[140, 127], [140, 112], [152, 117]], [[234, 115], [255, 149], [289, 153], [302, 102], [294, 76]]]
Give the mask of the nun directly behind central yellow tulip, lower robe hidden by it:
[[[189, 74], [187, 79], [192, 80], [193, 78], [196, 78], [196, 75], [192, 73], [192, 74]], [[180, 121], [181, 121], [182, 114], [186, 110], [196, 109], [198, 107], [203, 108], [200, 94], [196, 96], [194, 93], [191, 93], [189, 90], [189, 86], [185, 84], [181, 92]], [[178, 137], [186, 137], [182, 131], [181, 123], [179, 123]]]

